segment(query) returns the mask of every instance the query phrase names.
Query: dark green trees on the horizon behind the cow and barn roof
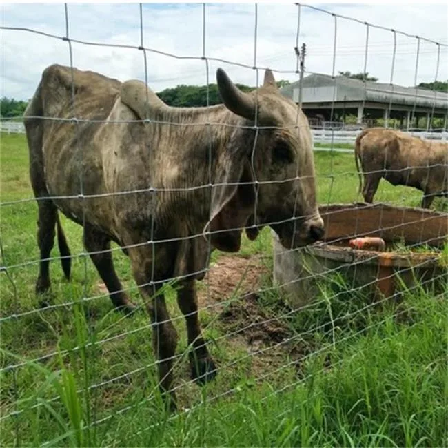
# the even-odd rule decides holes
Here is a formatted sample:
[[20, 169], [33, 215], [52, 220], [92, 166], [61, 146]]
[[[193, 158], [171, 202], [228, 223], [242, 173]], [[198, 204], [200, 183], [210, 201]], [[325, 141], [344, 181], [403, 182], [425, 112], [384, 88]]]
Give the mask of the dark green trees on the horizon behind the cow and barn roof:
[[[369, 76], [369, 73], [352, 73], [352, 72], [339, 72], [340, 76], [360, 79], [362, 81], [376, 82], [378, 78]], [[250, 92], [254, 90], [254, 87], [245, 84], [236, 84], [238, 88], [243, 92]], [[289, 85], [289, 81], [282, 79], [277, 81], [278, 88], [283, 88]], [[448, 93], [448, 80], [436, 81], [431, 83], [420, 83], [418, 87], [429, 90], [438, 90], [440, 92]], [[177, 85], [174, 88], [167, 88], [161, 92], [157, 92], [159, 98], [174, 107], [192, 108], [201, 107], [205, 105], [216, 105], [221, 103], [221, 97], [219, 96], [218, 85]], [[25, 112], [28, 101], [17, 101], [12, 98], [3, 98], [0, 100], [0, 114], [2, 117], [11, 118], [19, 117]]]

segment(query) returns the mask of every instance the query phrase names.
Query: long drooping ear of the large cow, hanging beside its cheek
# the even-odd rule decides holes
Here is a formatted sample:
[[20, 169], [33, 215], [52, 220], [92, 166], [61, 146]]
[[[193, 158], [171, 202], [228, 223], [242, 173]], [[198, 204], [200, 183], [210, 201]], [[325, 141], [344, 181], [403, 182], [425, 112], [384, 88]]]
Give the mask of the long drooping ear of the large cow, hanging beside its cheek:
[[225, 252], [238, 252], [241, 231], [254, 213], [255, 190], [250, 160], [246, 154], [223, 151], [212, 188], [209, 230], [212, 245]]

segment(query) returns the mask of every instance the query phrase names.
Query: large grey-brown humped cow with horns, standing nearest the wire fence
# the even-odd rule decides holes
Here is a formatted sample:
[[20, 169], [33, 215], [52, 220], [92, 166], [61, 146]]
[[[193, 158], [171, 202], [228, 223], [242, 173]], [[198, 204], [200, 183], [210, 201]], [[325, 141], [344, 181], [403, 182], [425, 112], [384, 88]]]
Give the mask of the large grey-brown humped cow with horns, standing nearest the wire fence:
[[296, 103], [282, 96], [271, 70], [242, 92], [224, 70], [223, 104], [166, 105], [143, 82], [50, 65], [24, 114], [30, 179], [37, 200], [38, 296], [50, 289], [55, 229], [63, 272], [70, 250], [58, 212], [83, 227], [85, 250], [114, 307], [134, 304], [116, 275], [110, 243], [130, 259], [152, 320], [159, 389], [176, 409], [172, 358], [177, 334], [162, 286], [176, 280], [185, 316], [193, 380], [216, 375], [198, 321], [195, 281], [210, 252], [237, 252], [241, 234], [270, 225], [285, 247], [323, 237], [316, 203], [312, 135]]

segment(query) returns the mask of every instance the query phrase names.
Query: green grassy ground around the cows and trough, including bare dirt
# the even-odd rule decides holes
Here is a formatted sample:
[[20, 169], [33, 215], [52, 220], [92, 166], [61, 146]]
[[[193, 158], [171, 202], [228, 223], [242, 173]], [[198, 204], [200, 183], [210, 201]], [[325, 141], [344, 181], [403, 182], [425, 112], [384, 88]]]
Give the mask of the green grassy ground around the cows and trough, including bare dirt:
[[[316, 152], [315, 161], [319, 203], [360, 200], [352, 154]], [[420, 198], [382, 181], [375, 199], [418, 206]], [[147, 316], [112, 312], [89, 258], [74, 258], [70, 283], [52, 262], [55, 306], [38, 309], [37, 206], [23, 135], [1, 135], [0, 201], [21, 201], [0, 208], [2, 447], [447, 446], [448, 287], [378, 306], [335, 278], [293, 312], [272, 288], [265, 229], [238, 254], [214, 254], [210, 287], [200, 282], [201, 322], [220, 369], [201, 389], [190, 381], [185, 324], [167, 287], [180, 336], [181, 412], [170, 415], [156, 393]], [[61, 218], [72, 255], [82, 254], [81, 227]], [[140, 303], [128, 259], [116, 250], [114, 262]], [[239, 298], [247, 292], [256, 294]]]

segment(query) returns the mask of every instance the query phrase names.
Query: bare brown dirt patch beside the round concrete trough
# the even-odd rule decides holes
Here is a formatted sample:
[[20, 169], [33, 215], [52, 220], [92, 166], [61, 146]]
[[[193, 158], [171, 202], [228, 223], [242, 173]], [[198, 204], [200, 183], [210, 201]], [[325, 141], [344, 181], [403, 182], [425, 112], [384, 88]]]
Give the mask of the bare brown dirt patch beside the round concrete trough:
[[209, 307], [216, 316], [230, 350], [250, 354], [246, 373], [256, 378], [287, 364], [300, 371], [301, 358], [311, 349], [281, 318], [289, 311], [287, 304], [263, 301], [260, 291], [271, 274], [261, 256], [221, 256], [198, 291], [200, 309]]

